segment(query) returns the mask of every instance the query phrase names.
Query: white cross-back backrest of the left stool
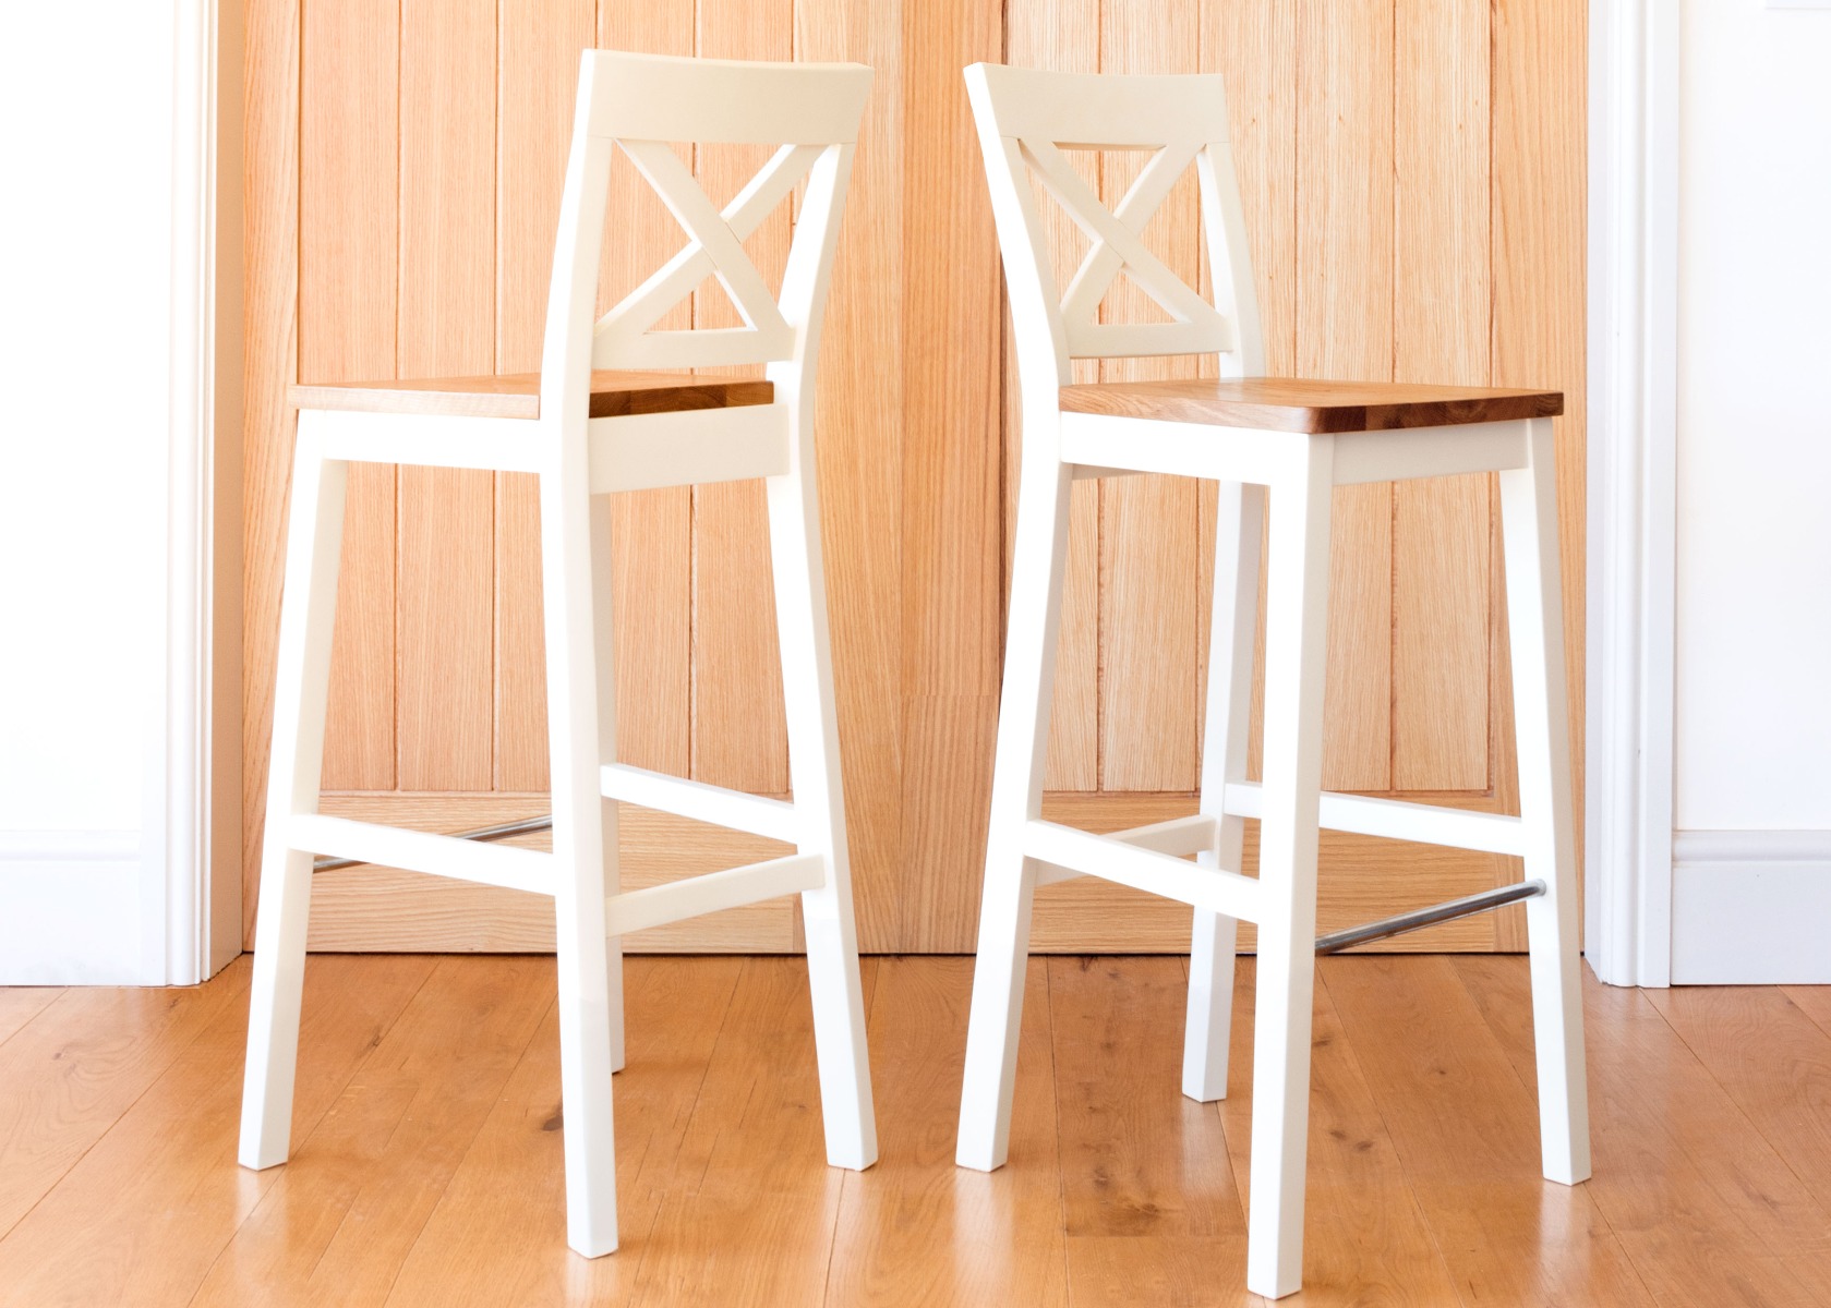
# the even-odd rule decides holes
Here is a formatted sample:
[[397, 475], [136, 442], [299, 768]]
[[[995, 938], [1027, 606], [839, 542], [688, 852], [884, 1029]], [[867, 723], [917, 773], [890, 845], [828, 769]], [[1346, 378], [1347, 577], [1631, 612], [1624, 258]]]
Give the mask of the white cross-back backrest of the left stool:
[[[839, 214], [859, 119], [872, 88], [862, 64], [765, 64], [588, 49], [560, 203], [542, 360], [542, 412], [586, 401], [591, 368], [769, 364], [778, 391], [800, 391], [818, 351]], [[674, 143], [780, 146], [725, 205], [712, 205]], [[595, 324], [612, 159], [623, 152], [687, 232], [687, 245]], [[780, 298], [743, 240], [806, 177]], [[657, 331], [716, 276], [742, 327]]]

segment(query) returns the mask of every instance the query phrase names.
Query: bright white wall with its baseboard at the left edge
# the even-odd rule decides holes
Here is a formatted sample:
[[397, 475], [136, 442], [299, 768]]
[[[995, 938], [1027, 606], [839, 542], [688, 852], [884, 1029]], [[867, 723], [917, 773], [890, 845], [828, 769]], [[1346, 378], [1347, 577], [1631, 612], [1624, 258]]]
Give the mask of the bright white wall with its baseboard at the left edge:
[[163, 675], [170, 5], [11, 5], [0, 121], [0, 982], [130, 981]]

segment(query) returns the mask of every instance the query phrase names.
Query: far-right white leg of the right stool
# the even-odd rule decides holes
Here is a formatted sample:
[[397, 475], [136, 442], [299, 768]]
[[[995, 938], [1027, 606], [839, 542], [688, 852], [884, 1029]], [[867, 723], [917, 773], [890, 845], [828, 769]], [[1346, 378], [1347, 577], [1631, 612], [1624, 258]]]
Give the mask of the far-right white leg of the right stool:
[[1545, 884], [1545, 893], [1525, 904], [1538, 1136], [1545, 1178], [1575, 1185], [1589, 1176], [1589, 1098], [1576, 964], [1576, 854], [1551, 419], [1531, 423], [1529, 448], [1531, 466], [1500, 474], [1500, 496], [1525, 874]]

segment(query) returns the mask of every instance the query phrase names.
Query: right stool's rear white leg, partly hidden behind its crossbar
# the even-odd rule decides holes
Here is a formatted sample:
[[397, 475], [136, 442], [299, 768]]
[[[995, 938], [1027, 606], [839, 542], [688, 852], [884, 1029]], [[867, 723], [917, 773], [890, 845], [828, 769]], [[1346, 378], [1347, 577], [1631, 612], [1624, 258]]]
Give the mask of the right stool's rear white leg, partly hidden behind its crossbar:
[[[1247, 779], [1263, 505], [1263, 488], [1223, 481], [1214, 520], [1214, 616], [1208, 629], [1201, 812], [1214, 814], [1218, 825], [1214, 851], [1199, 862], [1203, 867], [1225, 867], [1232, 873], [1240, 871], [1245, 820], [1229, 818], [1223, 805], [1227, 783]], [[1236, 933], [1234, 918], [1196, 909], [1188, 951], [1188, 1015], [1183, 1028], [1183, 1094], [1197, 1103], [1227, 1098]]]

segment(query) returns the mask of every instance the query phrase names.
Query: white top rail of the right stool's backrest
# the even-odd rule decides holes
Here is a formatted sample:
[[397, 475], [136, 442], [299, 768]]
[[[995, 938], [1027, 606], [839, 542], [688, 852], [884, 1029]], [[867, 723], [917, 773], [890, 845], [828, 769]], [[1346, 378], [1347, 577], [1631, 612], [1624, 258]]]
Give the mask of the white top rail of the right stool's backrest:
[[1219, 73], [1051, 73], [972, 64], [998, 135], [1066, 150], [1148, 150], [1174, 141], [1225, 143]]

